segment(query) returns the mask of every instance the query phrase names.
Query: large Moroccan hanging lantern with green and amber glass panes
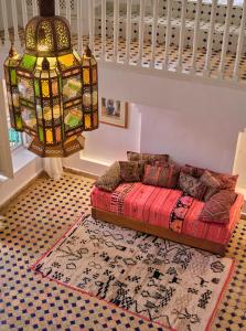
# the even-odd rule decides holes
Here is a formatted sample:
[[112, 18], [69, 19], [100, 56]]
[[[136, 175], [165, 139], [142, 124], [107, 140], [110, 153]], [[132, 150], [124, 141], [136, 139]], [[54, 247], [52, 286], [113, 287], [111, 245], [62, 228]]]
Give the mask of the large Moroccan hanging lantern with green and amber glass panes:
[[54, 0], [40, 0], [40, 15], [25, 28], [25, 53], [11, 46], [4, 63], [11, 126], [33, 137], [29, 149], [62, 158], [84, 148], [83, 131], [98, 128], [97, 63], [87, 47], [72, 47], [69, 23]]

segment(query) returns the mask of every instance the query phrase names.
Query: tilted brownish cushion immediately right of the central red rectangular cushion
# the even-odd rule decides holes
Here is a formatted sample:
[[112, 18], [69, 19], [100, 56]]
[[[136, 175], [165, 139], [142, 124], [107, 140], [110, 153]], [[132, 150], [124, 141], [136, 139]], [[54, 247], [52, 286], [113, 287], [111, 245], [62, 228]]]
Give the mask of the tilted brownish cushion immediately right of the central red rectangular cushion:
[[180, 172], [179, 188], [190, 196], [202, 200], [206, 185], [204, 185], [197, 178], [194, 178], [183, 171]]

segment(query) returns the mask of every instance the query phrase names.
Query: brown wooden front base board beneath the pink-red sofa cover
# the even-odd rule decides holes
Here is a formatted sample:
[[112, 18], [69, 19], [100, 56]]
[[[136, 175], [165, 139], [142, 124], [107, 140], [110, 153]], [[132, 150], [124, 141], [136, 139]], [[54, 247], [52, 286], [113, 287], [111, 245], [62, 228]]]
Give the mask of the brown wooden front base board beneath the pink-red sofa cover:
[[220, 254], [221, 256], [225, 255], [226, 245], [208, 242], [201, 238], [195, 238], [185, 234], [179, 234], [173, 232], [170, 228], [160, 227], [157, 225], [152, 225], [146, 222], [136, 221], [130, 217], [126, 217], [122, 215], [117, 215], [111, 212], [98, 210], [95, 207], [92, 207], [92, 215], [94, 218], [105, 221], [108, 223], [113, 223], [122, 227], [136, 229], [139, 232], [148, 233], [164, 239], [169, 239], [172, 242], [177, 242], [180, 244], [184, 244], [188, 246], [192, 246], [195, 248], [201, 248], [204, 250], [208, 250], [215, 254]]

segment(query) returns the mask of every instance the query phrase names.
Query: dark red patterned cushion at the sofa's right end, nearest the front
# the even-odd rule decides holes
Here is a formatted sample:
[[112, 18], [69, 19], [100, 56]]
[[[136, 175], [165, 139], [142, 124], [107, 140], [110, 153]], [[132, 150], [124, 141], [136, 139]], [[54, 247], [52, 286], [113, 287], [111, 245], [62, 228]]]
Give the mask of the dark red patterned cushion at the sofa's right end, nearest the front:
[[233, 191], [221, 190], [204, 204], [200, 215], [202, 222], [226, 224], [229, 222], [229, 210], [237, 194]]

